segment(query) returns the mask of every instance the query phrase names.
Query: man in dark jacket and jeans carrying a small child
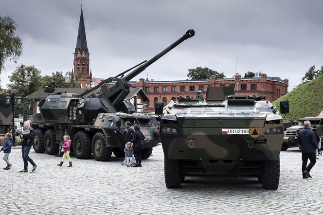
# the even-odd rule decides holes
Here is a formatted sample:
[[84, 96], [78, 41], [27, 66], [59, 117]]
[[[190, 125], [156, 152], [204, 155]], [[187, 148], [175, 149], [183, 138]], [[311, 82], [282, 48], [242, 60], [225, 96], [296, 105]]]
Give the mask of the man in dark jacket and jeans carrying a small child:
[[[27, 121], [30, 126], [32, 125], [32, 121]], [[23, 170], [20, 170], [19, 172], [28, 172], [28, 161], [33, 165], [33, 170], [35, 171], [37, 168], [36, 163], [29, 157], [29, 152], [34, 144], [34, 138], [35, 138], [35, 130], [31, 129], [30, 133], [27, 135], [20, 135], [21, 138], [21, 155], [23, 160]]]

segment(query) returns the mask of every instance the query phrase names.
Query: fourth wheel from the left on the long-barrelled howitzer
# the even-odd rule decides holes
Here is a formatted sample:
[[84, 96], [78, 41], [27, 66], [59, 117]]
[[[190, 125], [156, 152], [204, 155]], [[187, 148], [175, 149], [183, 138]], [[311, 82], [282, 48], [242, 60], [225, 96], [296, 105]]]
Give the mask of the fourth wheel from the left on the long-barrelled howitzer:
[[111, 159], [113, 148], [106, 147], [106, 145], [105, 135], [102, 132], [97, 132], [92, 140], [92, 152], [95, 160], [109, 161]]

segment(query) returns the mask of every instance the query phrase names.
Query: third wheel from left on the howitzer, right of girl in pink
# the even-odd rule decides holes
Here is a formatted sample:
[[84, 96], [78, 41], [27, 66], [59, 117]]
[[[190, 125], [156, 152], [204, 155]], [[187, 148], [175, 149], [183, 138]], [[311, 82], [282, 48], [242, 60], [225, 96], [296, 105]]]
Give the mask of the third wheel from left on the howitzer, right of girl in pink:
[[89, 159], [91, 156], [91, 138], [86, 131], [77, 131], [73, 138], [73, 152], [78, 159]]

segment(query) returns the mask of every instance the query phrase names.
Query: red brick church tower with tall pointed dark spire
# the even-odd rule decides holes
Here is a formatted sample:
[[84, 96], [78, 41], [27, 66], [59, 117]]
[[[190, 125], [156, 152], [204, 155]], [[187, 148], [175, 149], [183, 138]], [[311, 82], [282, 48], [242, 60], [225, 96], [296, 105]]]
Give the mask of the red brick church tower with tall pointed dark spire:
[[74, 77], [80, 88], [91, 88], [92, 72], [90, 71], [90, 57], [85, 35], [85, 26], [83, 18], [83, 8], [81, 7], [81, 17], [78, 26], [76, 48], [74, 54]]

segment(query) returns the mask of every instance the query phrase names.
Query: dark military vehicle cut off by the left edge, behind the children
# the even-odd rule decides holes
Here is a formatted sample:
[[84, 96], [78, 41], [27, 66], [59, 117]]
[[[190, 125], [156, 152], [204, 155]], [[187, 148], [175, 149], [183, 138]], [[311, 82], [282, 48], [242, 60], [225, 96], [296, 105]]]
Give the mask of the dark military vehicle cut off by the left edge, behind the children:
[[6, 104], [5, 98], [7, 94], [0, 94], [0, 134], [10, 132], [12, 125], [12, 103]]

